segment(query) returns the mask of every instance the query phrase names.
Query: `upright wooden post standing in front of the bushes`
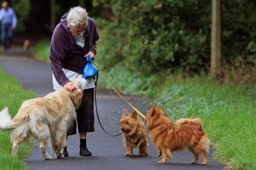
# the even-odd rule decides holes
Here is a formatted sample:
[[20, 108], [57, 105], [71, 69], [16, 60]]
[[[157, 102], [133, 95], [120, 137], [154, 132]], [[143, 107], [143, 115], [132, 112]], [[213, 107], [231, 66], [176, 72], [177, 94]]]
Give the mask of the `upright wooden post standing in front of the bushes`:
[[221, 0], [212, 0], [211, 75], [215, 78], [221, 73], [221, 4]]

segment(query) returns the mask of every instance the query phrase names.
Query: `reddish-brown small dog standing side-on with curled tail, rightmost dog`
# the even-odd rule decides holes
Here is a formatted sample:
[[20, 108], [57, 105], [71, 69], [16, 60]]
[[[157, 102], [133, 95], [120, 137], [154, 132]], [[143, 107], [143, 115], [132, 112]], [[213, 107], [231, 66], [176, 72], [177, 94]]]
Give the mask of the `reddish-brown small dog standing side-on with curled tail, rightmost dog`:
[[163, 153], [163, 159], [158, 163], [166, 163], [175, 150], [188, 149], [194, 154], [194, 160], [190, 163], [196, 164], [200, 153], [202, 164], [207, 164], [206, 153], [209, 151], [210, 140], [203, 131], [199, 118], [182, 118], [173, 122], [164, 115], [160, 107], [152, 107], [145, 120], [150, 139], [158, 149], [157, 156]]

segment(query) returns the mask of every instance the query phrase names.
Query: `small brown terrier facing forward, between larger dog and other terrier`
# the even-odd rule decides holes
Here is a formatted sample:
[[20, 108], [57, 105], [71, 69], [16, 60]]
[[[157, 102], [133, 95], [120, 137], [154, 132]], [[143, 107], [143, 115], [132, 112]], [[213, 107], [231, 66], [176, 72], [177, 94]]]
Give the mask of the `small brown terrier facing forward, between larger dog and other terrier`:
[[119, 122], [120, 131], [123, 135], [123, 142], [126, 147], [125, 156], [133, 156], [133, 148], [139, 148], [139, 156], [147, 156], [147, 135], [145, 126], [137, 112], [129, 114], [124, 110], [122, 119]]

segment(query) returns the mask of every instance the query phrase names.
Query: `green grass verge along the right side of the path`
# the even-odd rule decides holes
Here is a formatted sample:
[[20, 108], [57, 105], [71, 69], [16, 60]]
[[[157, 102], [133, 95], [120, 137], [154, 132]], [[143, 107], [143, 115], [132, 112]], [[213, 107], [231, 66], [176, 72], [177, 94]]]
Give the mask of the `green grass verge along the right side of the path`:
[[[44, 45], [49, 47], [49, 44]], [[101, 68], [105, 49], [101, 47], [101, 40], [97, 46], [96, 62]], [[207, 76], [146, 77], [142, 73], [131, 72], [123, 63], [102, 71], [122, 93], [152, 97], [151, 105], [160, 105], [173, 120], [201, 118], [214, 143], [215, 159], [232, 169], [256, 169], [256, 86], [224, 85]], [[99, 86], [110, 88], [101, 76]]]

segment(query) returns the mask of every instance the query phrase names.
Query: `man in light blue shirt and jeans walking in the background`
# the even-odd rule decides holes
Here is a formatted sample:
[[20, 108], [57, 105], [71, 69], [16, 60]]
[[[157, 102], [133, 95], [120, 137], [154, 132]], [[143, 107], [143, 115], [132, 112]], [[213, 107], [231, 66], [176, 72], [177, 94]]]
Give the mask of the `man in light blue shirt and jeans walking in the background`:
[[13, 30], [17, 25], [17, 17], [13, 8], [8, 6], [8, 2], [3, 2], [2, 7], [0, 10], [1, 40], [4, 49], [7, 50], [10, 47]]

